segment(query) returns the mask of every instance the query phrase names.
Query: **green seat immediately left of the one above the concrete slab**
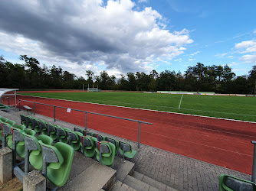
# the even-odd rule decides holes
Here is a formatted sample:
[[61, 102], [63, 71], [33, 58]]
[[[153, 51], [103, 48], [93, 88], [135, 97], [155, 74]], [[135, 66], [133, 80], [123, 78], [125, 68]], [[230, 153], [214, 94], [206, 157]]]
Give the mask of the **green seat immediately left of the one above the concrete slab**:
[[97, 138], [94, 138], [92, 136], [81, 136], [80, 138], [80, 145], [82, 147], [82, 153], [86, 157], [94, 157], [95, 155], [95, 141], [97, 141]]

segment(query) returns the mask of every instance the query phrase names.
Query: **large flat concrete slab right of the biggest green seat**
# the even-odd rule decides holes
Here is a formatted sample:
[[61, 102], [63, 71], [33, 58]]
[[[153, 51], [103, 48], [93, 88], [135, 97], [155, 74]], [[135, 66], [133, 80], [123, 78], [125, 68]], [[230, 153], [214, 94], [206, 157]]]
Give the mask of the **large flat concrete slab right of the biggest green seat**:
[[109, 190], [116, 176], [116, 170], [74, 152], [71, 174], [67, 183], [58, 190]]

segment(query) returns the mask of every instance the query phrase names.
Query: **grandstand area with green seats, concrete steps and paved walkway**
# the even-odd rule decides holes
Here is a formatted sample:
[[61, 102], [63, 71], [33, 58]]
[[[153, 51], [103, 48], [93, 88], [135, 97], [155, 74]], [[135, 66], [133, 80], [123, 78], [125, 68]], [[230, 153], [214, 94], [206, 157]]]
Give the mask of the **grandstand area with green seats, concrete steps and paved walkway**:
[[[57, 190], [217, 190], [218, 176], [221, 173], [230, 174], [229, 180], [232, 180], [233, 176], [242, 179], [239, 181], [251, 179], [251, 176], [245, 173], [162, 151], [145, 144], [139, 148], [134, 141], [88, 127], [85, 131], [84, 127], [79, 125], [54, 121], [54, 118], [44, 115], [26, 115], [22, 110], [0, 111], [0, 115], [4, 126], [3, 139], [6, 140], [6, 142], [2, 140], [4, 147], [2, 149], [11, 151], [9, 147], [16, 144], [15, 158], [19, 162], [25, 161], [26, 158], [22, 147], [27, 145], [27, 151], [30, 151], [29, 156], [27, 155], [29, 168], [28, 161], [21, 165], [12, 164], [15, 167], [15, 176], [21, 178], [20, 174], [23, 174], [20, 170], [24, 168], [26, 178], [29, 176], [25, 173], [38, 177], [42, 177], [41, 173], [44, 173], [48, 177], [47, 185], [50, 189], [57, 186]], [[8, 131], [10, 127], [12, 131]], [[18, 134], [21, 132], [25, 141], [18, 139]], [[26, 144], [27, 140], [29, 144]], [[41, 147], [41, 152], [45, 151], [43, 158], [48, 158], [46, 161], [50, 164], [47, 174], [43, 170], [45, 160], [40, 159], [38, 151], [28, 147], [34, 142]], [[64, 148], [62, 151], [61, 147]], [[130, 149], [130, 152], [122, 152], [118, 147]], [[110, 150], [112, 153], [107, 153]], [[56, 159], [51, 157], [51, 152], [56, 153], [57, 161], [61, 161], [60, 156], [62, 156], [63, 162], [52, 163]], [[2, 153], [0, 151], [0, 154]], [[39, 167], [38, 160], [42, 161]], [[34, 170], [39, 170], [41, 173], [36, 173], [38, 171]], [[51, 176], [51, 173], [55, 175]], [[222, 177], [224, 185], [225, 179], [226, 176]], [[26, 187], [24, 186], [23, 189], [26, 190]]]

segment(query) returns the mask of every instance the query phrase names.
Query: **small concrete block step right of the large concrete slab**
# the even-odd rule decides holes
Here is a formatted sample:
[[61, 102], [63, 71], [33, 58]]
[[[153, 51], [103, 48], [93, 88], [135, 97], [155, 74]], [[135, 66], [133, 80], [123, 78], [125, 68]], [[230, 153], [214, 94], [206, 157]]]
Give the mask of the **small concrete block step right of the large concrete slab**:
[[128, 174], [133, 174], [134, 167], [135, 163], [132, 163], [128, 160], [123, 160], [122, 158], [116, 156], [113, 166], [111, 168], [117, 170], [117, 180], [123, 182]]

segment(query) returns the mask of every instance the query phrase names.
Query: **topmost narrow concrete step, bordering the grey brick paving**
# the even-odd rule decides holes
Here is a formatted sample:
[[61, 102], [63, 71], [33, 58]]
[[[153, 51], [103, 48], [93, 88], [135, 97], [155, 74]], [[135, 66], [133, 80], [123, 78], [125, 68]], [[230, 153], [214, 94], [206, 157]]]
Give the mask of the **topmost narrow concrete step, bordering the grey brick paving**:
[[176, 189], [173, 189], [172, 187], [167, 186], [164, 183], [160, 183], [160, 182], [158, 182], [156, 180], [153, 180], [149, 176], [145, 176], [142, 173], [138, 173], [136, 171], [134, 171], [133, 177], [136, 178], [137, 180], [140, 180], [143, 183], [147, 183], [150, 186], [153, 186], [153, 187], [155, 187], [156, 189], [159, 189], [159, 190], [168, 190], [168, 191], [172, 190], [172, 191], [176, 191]]

